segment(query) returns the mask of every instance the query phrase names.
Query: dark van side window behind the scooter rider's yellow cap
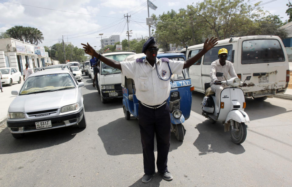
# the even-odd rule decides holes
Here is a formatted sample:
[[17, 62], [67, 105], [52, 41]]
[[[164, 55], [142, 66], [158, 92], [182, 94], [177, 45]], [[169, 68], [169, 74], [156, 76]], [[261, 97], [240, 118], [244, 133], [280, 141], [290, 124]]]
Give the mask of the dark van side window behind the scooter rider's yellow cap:
[[223, 46], [215, 46], [212, 49], [210, 49], [205, 55], [204, 55], [204, 60], [203, 64], [204, 65], [211, 65], [212, 62], [215, 60], [219, 59], [218, 57], [218, 51], [221, 48], [225, 48], [228, 50], [228, 57], [226, 60], [233, 62], [232, 59], [232, 45], [223, 45]]

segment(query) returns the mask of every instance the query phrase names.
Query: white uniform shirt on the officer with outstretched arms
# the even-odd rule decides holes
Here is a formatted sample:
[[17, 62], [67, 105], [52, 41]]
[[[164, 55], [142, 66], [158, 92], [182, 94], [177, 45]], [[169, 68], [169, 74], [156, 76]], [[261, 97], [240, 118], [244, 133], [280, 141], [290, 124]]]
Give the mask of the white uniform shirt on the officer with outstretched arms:
[[[145, 59], [143, 62], [125, 61], [120, 62], [122, 73], [135, 82], [136, 97], [146, 105], [154, 106], [162, 104], [170, 93], [170, 80], [161, 80], [156, 72], [155, 64], [152, 67]], [[157, 70], [162, 79], [168, 79], [170, 75], [167, 62], [156, 58]], [[172, 74], [181, 74], [184, 61], [169, 60]]]

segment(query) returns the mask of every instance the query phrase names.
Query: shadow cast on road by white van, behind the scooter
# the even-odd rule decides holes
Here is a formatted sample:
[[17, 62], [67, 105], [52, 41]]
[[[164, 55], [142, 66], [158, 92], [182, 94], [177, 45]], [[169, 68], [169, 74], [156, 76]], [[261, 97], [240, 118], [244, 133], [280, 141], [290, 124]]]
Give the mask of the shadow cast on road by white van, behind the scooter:
[[[193, 92], [191, 110], [200, 115], [202, 115], [201, 103], [204, 96], [205, 94], [203, 93]], [[272, 105], [268, 101], [257, 101], [252, 98], [245, 97], [245, 102], [246, 108], [244, 111], [249, 115], [250, 120], [263, 119], [290, 112], [283, 107]]]

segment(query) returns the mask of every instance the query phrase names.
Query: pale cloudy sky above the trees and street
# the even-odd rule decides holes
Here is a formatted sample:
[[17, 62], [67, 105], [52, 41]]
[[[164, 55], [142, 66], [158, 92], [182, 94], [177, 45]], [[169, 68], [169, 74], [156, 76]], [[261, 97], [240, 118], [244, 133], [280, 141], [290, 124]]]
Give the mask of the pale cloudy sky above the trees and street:
[[[199, 0], [151, 0], [158, 8], [149, 9], [156, 16], [171, 9], [178, 11], [187, 5], [194, 5]], [[259, 2], [250, 0], [250, 4]], [[271, 14], [288, 19], [286, 4], [288, 0], [262, 0], [262, 9]], [[146, 25], [147, 0], [0, 0], [0, 32], [20, 25], [38, 28], [43, 33], [43, 43], [39, 46], [52, 46], [62, 41], [88, 42], [100, 49], [100, 36], [108, 38], [120, 35], [120, 41], [127, 37], [127, 13], [129, 16], [130, 39], [149, 36]]]

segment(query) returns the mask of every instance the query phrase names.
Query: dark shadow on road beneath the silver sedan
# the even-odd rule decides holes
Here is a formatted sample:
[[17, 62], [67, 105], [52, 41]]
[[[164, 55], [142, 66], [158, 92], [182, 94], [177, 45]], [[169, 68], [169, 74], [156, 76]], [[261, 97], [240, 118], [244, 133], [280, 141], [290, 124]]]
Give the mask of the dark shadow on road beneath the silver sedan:
[[77, 125], [39, 132], [26, 133], [25, 137], [15, 139], [6, 127], [0, 133], [0, 154], [19, 153], [63, 144], [84, 129]]

